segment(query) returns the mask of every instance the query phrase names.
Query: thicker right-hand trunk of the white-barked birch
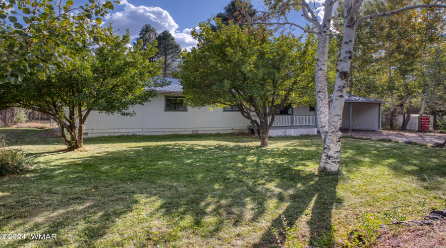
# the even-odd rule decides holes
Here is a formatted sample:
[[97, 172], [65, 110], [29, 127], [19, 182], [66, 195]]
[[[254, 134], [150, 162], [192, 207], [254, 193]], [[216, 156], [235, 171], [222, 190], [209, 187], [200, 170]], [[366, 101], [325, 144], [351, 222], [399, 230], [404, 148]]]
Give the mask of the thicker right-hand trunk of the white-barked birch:
[[351, 13], [347, 13], [346, 10], [344, 12], [344, 31], [339, 60], [337, 62], [335, 91], [333, 92], [328, 120], [321, 124], [328, 124], [328, 128], [326, 131], [327, 134], [322, 136], [324, 148], [319, 171], [327, 171], [329, 173], [336, 173], [339, 169], [342, 139], [342, 110], [348, 86], [355, 38], [355, 27], [351, 22], [354, 20], [356, 13], [354, 10], [351, 10]]

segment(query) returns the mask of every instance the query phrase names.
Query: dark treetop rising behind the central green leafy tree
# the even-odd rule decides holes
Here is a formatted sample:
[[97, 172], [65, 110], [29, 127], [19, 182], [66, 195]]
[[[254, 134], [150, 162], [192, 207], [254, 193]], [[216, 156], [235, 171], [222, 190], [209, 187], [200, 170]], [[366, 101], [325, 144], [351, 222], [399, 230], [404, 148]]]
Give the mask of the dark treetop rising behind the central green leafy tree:
[[[240, 27], [246, 23], [250, 18], [257, 14], [257, 10], [250, 1], [245, 0], [231, 0], [225, 7], [224, 12], [218, 13], [215, 17], [222, 20], [223, 25], [228, 25], [230, 22], [239, 23]], [[212, 30], [219, 29], [216, 25], [211, 25]]]

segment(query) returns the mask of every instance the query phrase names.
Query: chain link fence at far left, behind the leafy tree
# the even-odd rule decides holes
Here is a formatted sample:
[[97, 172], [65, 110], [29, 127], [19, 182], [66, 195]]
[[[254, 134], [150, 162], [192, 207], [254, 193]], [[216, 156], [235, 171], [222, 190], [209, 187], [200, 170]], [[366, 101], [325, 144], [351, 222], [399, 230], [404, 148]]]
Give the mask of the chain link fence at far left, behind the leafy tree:
[[0, 110], [0, 127], [13, 126], [53, 128], [56, 127], [57, 124], [49, 116], [35, 110], [27, 110], [23, 108]]

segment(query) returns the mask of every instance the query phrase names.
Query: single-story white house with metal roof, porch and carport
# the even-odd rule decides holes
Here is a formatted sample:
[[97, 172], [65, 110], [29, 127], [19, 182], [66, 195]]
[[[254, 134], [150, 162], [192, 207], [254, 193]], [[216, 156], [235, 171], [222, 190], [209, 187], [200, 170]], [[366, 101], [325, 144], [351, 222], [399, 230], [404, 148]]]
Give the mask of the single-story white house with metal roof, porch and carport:
[[[212, 111], [209, 107], [188, 107], [178, 79], [166, 79], [170, 85], [155, 88], [158, 92], [157, 97], [144, 105], [136, 105], [129, 109], [136, 113], [135, 116], [124, 117], [92, 111], [85, 124], [85, 135], [98, 137], [251, 131], [250, 122], [235, 106]], [[343, 126], [381, 130], [379, 120], [383, 101], [348, 94], [345, 100]], [[316, 134], [317, 130], [316, 112], [313, 107], [288, 107], [276, 116], [270, 136]]]

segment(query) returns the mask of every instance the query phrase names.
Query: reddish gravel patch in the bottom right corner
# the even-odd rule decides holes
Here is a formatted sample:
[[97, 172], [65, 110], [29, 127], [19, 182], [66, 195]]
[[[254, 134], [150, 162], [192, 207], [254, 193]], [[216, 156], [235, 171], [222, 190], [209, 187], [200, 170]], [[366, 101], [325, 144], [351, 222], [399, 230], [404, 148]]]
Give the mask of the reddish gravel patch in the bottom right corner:
[[446, 248], [446, 221], [432, 226], [401, 227], [396, 231], [382, 230], [380, 248]]

